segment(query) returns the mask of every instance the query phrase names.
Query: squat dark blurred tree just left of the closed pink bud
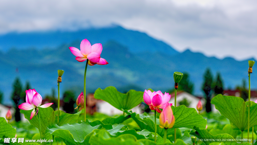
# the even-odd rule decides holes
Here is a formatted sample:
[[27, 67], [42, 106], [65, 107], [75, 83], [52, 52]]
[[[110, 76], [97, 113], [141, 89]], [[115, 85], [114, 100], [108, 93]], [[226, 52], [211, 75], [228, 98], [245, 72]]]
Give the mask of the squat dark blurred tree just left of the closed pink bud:
[[73, 91], [65, 91], [63, 93], [63, 110], [67, 113], [74, 113], [75, 93]]

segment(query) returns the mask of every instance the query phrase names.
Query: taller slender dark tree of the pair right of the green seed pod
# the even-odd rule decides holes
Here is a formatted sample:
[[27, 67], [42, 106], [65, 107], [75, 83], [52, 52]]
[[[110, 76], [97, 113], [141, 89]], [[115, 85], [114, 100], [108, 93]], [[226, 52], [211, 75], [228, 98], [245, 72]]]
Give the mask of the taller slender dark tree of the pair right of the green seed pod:
[[206, 96], [206, 104], [205, 104], [205, 108], [206, 108], [206, 112], [211, 112], [212, 111], [212, 106], [211, 106], [211, 96], [212, 96], [212, 72], [210, 71], [209, 68], [206, 69], [205, 73], [204, 73], [204, 83], [202, 85], [202, 90], [205, 93]]

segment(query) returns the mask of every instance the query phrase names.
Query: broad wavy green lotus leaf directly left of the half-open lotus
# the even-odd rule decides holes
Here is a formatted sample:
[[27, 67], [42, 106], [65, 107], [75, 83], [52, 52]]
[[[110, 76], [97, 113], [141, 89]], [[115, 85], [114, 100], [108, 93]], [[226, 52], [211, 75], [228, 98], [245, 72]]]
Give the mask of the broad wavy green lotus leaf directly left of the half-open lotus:
[[126, 94], [118, 92], [113, 86], [109, 86], [104, 90], [98, 88], [95, 91], [96, 99], [104, 100], [117, 109], [130, 110], [142, 102], [144, 92], [130, 90]]

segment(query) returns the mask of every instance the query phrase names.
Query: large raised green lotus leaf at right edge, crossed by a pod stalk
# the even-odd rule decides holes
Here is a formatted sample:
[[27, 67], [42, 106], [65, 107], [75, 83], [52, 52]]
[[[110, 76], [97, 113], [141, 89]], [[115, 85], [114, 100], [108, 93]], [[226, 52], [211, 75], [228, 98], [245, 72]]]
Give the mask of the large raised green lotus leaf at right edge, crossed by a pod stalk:
[[[234, 96], [223, 96], [221, 94], [212, 99], [215, 108], [230, 120], [239, 130], [247, 130], [247, 116], [249, 101]], [[250, 128], [257, 125], [257, 104], [250, 101]], [[232, 124], [232, 125], [233, 125]]]

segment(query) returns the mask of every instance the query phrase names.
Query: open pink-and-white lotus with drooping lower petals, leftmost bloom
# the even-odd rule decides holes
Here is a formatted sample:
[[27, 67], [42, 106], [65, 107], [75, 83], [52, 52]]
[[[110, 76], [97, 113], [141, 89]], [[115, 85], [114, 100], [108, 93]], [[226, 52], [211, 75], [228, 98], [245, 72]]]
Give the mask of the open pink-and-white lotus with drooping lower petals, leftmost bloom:
[[47, 108], [53, 104], [53, 103], [47, 103], [47, 104], [41, 105], [41, 103], [42, 103], [41, 95], [38, 92], [36, 92], [35, 89], [33, 90], [29, 89], [29, 90], [26, 90], [26, 102], [20, 104], [18, 107], [22, 110], [33, 109], [30, 115], [30, 119], [32, 119], [35, 114], [36, 115], [38, 114], [38, 107]]

